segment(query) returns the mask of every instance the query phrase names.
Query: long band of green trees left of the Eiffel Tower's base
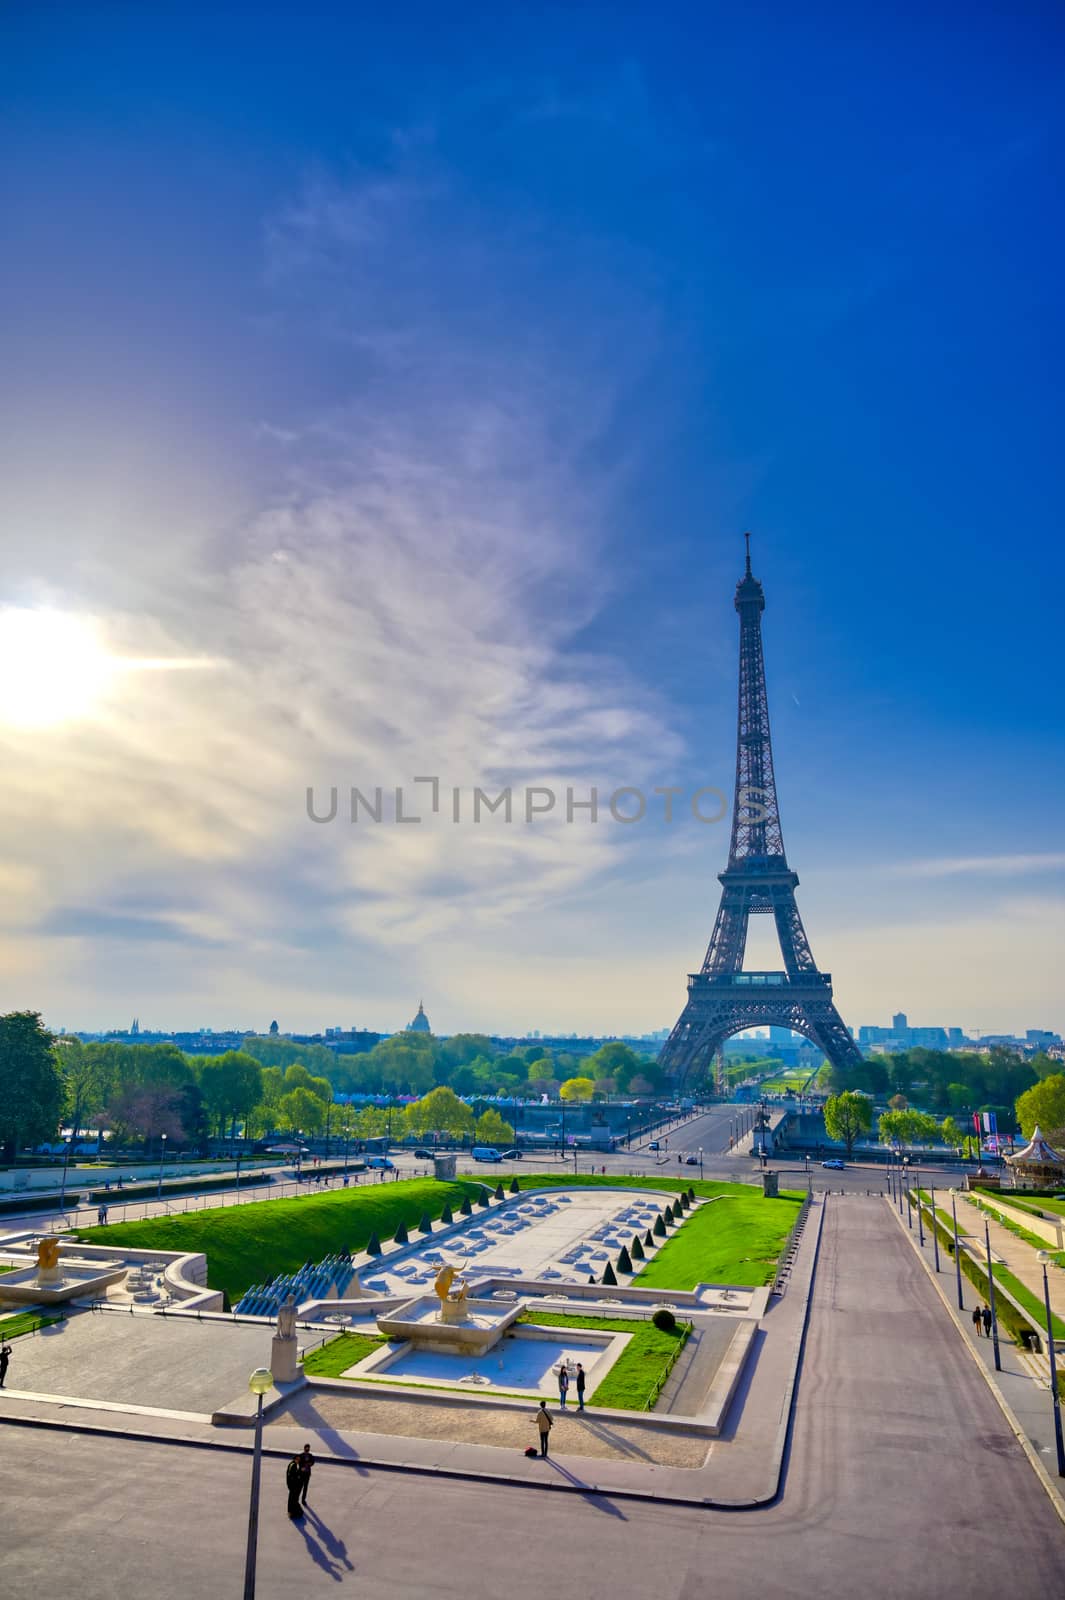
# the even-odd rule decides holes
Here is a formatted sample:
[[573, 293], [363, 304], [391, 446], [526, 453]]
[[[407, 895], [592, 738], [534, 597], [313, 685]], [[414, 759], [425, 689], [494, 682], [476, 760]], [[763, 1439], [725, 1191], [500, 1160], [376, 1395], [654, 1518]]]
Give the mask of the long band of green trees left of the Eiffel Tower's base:
[[[288, 1130], [366, 1139], [390, 1126], [384, 1107], [334, 1104], [337, 1093], [416, 1094], [393, 1131], [438, 1128], [496, 1144], [512, 1141], [513, 1128], [491, 1109], [478, 1118], [461, 1094], [580, 1102], [652, 1093], [659, 1082], [656, 1064], [620, 1042], [580, 1059], [542, 1045], [504, 1053], [480, 1034], [398, 1034], [365, 1056], [337, 1058], [321, 1045], [253, 1035], [240, 1050], [185, 1056], [176, 1045], [56, 1037], [38, 1013], [13, 1011], [0, 1018], [0, 1149], [11, 1162], [18, 1149], [54, 1139], [59, 1126], [70, 1128], [72, 1142], [86, 1128], [107, 1128], [118, 1144], [166, 1136], [170, 1149], [197, 1150], [237, 1130], [246, 1138]], [[432, 1122], [445, 1107], [446, 1120]]]

